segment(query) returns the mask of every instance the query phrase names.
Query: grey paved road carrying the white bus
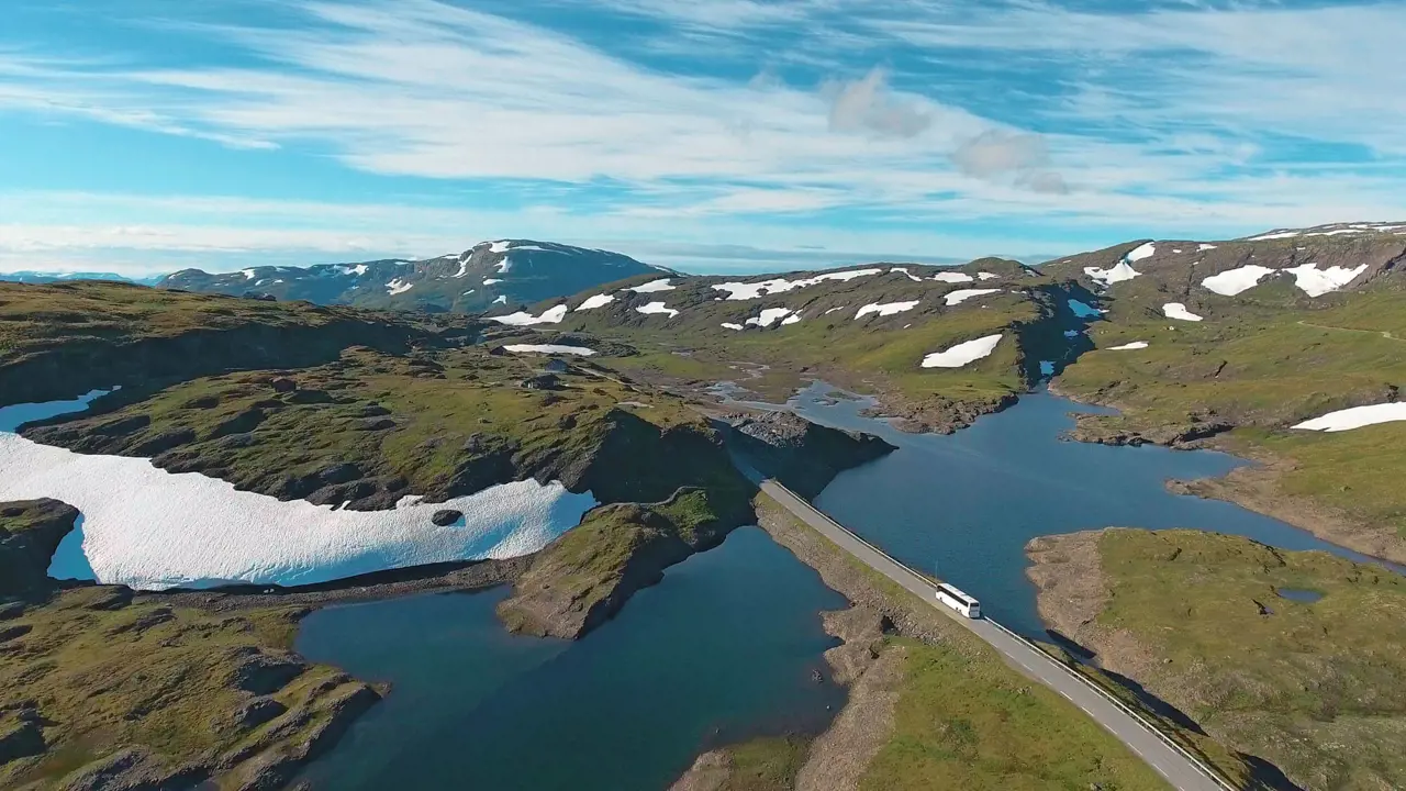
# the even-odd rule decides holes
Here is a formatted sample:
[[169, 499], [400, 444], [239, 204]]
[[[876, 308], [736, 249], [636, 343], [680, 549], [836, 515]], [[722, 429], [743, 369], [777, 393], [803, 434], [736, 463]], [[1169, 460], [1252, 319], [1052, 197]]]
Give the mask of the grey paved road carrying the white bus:
[[762, 490], [807, 525], [835, 542], [841, 549], [912, 591], [924, 601], [932, 602], [932, 607], [938, 611], [952, 616], [953, 621], [974, 632], [995, 650], [1001, 652], [1012, 667], [1069, 698], [1070, 702], [1084, 709], [1085, 714], [1092, 716], [1094, 721], [1114, 736], [1118, 736], [1132, 752], [1142, 756], [1173, 787], [1181, 791], [1225, 791], [1225, 787], [1206, 777], [1195, 761], [1168, 746], [1150, 728], [1109, 702], [1108, 698], [1097, 692], [1087, 683], [1081, 681], [1078, 676], [1074, 676], [1073, 671], [1054, 662], [1046, 653], [1021, 642], [990, 619], [973, 621], [942, 607], [935, 598], [932, 583], [869, 546], [848, 529], [817, 511], [810, 502], [792, 494], [790, 490], [770, 480], [762, 483]]

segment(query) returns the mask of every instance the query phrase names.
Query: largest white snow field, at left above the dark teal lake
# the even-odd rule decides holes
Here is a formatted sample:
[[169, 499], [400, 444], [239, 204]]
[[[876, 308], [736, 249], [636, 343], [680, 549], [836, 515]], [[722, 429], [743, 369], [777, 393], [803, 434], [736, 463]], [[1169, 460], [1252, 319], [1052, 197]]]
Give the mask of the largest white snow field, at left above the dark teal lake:
[[[581, 522], [596, 498], [529, 479], [441, 504], [406, 497], [389, 511], [335, 511], [280, 501], [200, 473], [173, 474], [146, 459], [73, 453], [14, 429], [77, 412], [101, 396], [0, 408], [0, 501], [52, 497], [83, 512], [53, 569], [91, 567], [94, 578], [134, 588], [229, 581], [308, 584], [422, 563], [515, 557]], [[436, 526], [441, 508], [461, 511]], [[77, 540], [86, 564], [76, 557]]]

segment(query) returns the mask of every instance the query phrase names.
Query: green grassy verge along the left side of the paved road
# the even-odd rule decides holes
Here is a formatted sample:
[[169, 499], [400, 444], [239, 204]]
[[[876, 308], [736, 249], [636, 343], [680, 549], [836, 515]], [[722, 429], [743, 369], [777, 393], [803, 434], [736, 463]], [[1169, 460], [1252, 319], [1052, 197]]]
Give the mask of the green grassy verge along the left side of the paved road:
[[1112, 735], [1057, 692], [1021, 676], [931, 604], [820, 538], [775, 501], [759, 497], [758, 507], [768, 519], [818, 539], [810, 543], [824, 559], [807, 563], [838, 562], [894, 607], [927, 615], [941, 632], [934, 642], [894, 638], [882, 649], [901, 645], [907, 652], [904, 678], [893, 729], [860, 788], [1167, 788]]

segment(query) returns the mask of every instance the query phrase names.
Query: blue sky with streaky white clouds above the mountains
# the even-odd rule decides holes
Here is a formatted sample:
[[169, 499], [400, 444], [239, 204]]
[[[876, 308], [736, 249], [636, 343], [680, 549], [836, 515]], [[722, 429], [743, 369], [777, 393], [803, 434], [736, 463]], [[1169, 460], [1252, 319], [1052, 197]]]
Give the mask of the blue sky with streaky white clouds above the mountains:
[[1406, 218], [1406, 0], [6, 0], [0, 270], [1038, 262]]

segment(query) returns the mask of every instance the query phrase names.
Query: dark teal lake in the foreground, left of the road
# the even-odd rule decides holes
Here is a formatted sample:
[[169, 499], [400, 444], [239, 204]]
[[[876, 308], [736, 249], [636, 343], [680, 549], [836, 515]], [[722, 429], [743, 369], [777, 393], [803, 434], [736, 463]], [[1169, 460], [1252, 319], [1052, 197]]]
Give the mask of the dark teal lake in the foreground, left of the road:
[[509, 635], [494, 615], [503, 595], [309, 615], [299, 653], [394, 690], [307, 778], [337, 791], [658, 791], [711, 745], [818, 732], [844, 705], [818, 612], [845, 601], [756, 528], [669, 569], [575, 643]]

